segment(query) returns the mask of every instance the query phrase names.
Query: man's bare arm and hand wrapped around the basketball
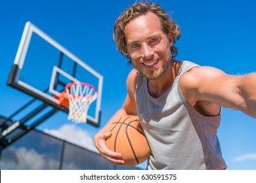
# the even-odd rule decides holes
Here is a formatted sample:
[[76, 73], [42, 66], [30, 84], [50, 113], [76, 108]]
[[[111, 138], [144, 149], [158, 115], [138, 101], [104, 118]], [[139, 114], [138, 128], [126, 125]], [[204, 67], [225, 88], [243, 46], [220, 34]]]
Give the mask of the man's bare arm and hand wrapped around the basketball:
[[116, 114], [112, 116], [109, 122], [95, 135], [95, 146], [102, 156], [104, 156], [108, 161], [115, 165], [123, 165], [124, 161], [121, 158], [121, 154], [118, 152], [112, 152], [106, 147], [106, 139], [111, 136], [110, 131], [106, 131], [108, 125], [115, 120], [119, 120], [121, 116], [125, 115], [136, 115], [137, 109], [135, 104], [134, 92], [135, 92], [135, 79], [137, 77], [137, 71], [133, 69], [129, 76], [127, 77], [127, 97], [123, 103], [123, 107], [117, 110]]

